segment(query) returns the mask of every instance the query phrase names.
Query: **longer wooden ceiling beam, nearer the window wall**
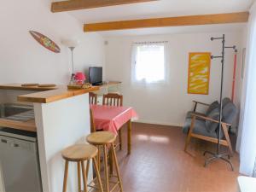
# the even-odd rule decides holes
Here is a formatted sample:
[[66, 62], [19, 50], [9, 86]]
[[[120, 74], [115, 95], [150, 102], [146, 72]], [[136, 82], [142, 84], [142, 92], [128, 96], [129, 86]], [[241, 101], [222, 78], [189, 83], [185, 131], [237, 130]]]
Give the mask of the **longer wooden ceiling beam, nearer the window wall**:
[[190, 15], [145, 20], [119, 20], [112, 22], [84, 24], [84, 32], [100, 32], [163, 26], [198, 26], [224, 23], [242, 23], [247, 22], [248, 17], [248, 12], [239, 12], [230, 14]]

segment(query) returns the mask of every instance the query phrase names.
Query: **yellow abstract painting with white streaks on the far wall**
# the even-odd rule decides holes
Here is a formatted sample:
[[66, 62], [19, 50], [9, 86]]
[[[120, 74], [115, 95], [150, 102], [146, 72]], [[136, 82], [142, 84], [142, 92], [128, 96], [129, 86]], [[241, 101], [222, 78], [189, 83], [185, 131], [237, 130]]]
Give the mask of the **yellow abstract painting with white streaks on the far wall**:
[[189, 94], [209, 93], [211, 53], [189, 53]]

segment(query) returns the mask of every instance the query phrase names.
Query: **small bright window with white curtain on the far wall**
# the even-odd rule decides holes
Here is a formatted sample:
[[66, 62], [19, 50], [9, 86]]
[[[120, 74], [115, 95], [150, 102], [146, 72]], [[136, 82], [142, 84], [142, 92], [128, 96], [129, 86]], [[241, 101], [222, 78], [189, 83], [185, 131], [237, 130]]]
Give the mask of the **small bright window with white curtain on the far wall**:
[[166, 43], [134, 44], [131, 67], [132, 82], [164, 82], [166, 80]]

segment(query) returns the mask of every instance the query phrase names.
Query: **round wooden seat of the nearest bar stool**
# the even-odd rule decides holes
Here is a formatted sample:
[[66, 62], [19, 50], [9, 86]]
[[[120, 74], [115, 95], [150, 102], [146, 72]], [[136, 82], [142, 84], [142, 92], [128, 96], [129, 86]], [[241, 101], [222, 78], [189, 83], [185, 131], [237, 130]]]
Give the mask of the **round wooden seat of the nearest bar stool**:
[[98, 148], [90, 144], [76, 144], [65, 148], [61, 154], [63, 159], [68, 161], [90, 160], [95, 157]]

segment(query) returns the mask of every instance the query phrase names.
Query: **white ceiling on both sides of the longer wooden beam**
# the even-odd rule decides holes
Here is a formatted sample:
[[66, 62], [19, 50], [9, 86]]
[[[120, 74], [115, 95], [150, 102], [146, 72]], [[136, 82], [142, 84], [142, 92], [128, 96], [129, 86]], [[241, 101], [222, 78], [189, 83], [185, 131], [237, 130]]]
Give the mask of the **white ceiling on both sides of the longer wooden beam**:
[[[61, 0], [54, 0], [61, 1]], [[159, 0], [112, 7], [83, 9], [67, 12], [82, 23], [113, 20], [136, 20], [181, 15], [205, 15], [247, 11], [254, 0]], [[186, 32], [231, 32], [241, 31], [246, 24], [206, 26], [171, 26], [98, 32], [104, 37], [124, 35], [150, 35]]]

